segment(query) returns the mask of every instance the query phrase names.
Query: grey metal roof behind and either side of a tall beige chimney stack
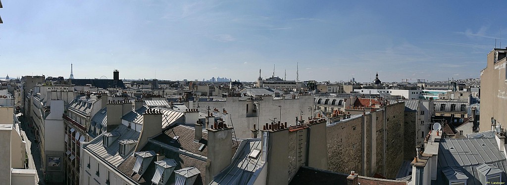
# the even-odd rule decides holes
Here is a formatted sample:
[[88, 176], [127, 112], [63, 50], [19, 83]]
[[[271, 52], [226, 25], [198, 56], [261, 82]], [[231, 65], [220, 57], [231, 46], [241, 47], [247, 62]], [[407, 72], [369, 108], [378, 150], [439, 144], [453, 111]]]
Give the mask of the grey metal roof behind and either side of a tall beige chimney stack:
[[[146, 111], [146, 109], [147, 106], [142, 106], [135, 111], [131, 110], [130, 113], [127, 113], [122, 117], [122, 120], [142, 125], [144, 121], [142, 114]], [[162, 110], [162, 128], [166, 128], [174, 124], [178, 119], [182, 118], [185, 115], [183, 112], [179, 112], [167, 107], [154, 107], [152, 109]]]

